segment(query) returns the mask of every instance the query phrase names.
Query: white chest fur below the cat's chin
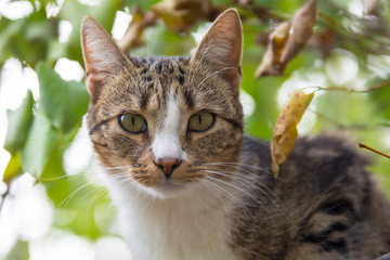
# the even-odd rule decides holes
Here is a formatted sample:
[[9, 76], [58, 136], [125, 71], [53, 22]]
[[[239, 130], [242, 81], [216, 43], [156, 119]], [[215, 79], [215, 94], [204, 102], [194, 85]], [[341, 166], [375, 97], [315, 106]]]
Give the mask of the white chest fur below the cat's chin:
[[134, 260], [235, 259], [229, 247], [230, 205], [211, 191], [153, 199], [119, 185], [108, 184]]

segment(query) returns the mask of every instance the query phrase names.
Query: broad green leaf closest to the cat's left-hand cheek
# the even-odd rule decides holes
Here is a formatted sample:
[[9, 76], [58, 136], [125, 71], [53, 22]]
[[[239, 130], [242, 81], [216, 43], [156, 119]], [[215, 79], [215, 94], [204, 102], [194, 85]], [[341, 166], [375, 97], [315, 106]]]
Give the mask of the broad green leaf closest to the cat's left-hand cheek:
[[37, 65], [40, 108], [52, 125], [67, 132], [81, 122], [87, 113], [89, 96], [83, 83], [63, 80], [44, 63]]

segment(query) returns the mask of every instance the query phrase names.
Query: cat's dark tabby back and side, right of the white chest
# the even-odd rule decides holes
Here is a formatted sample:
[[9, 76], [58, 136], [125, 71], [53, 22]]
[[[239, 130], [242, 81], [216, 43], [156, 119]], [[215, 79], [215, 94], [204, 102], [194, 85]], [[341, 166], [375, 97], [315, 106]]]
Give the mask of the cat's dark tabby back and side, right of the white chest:
[[255, 217], [242, 218], [235, 233], [245, 259], [255, 251], [266, 251], [264, 259], [375, 259], [390, 251], [389, 204], [346, 138], [299, 139], [277, 179], [269, 146], [244, 139], [243, 174], [256, 172], [261, 197], [243, 199]]

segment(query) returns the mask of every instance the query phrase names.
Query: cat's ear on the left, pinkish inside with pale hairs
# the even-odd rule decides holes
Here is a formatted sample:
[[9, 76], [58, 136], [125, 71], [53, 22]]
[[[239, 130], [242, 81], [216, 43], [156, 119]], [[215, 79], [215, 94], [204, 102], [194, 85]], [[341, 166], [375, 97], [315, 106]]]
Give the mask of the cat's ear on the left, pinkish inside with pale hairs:
[[128, 64], [113, 38], [92, 17], [86, 15], [81, 22], [81, 46], [87, 76], [86, 84], [94, 103], [106, 80]]

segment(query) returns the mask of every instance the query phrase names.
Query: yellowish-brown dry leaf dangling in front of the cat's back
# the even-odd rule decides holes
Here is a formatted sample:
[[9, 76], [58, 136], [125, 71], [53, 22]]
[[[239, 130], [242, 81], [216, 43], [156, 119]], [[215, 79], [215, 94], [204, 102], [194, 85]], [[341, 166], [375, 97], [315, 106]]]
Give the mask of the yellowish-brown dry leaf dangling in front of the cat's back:
[[294, 148], [298, 136], [297, 126], [313, 96], [314, 92], [307, 94], [303, 90], [295, 91], [276, 120], [271, 142], [272, 171], [275, 177], [278, 176], [280, 165]]

